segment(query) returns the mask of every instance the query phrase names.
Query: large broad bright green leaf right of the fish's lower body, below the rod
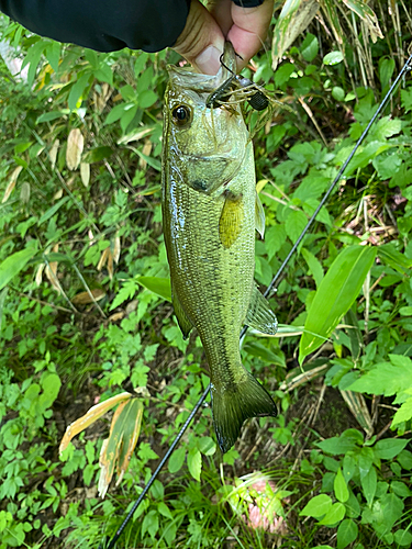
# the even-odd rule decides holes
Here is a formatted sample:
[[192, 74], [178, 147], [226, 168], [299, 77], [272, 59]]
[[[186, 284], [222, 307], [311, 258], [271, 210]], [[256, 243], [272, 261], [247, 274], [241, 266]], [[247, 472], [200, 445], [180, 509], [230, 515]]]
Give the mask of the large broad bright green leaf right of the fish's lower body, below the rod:
[[342, 316], [357, 298], [371, 268], [376, 249], [367, 246], [345, 248], [323, 278], [308, 313], [299, 346], [299, 362], [330, 337]]

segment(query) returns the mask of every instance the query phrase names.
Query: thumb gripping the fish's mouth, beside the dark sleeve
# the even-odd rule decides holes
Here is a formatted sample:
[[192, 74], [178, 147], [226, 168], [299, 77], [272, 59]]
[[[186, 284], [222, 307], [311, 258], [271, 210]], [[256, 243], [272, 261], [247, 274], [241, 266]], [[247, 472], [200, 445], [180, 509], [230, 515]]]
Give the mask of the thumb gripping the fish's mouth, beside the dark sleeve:
[[183, 32], [172, 48], [205, 75], [215, 75], [221, 66], [224, 36], [216, 21], [200, 3], [191, 0]]

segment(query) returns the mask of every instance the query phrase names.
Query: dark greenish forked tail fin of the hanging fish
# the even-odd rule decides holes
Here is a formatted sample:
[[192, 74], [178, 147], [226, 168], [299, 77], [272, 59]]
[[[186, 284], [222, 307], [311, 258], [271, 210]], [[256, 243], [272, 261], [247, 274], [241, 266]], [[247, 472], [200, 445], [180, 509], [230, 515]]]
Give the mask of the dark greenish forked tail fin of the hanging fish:
[[244, 372], [245, 379], [229, 388], [214, 385], [212, 382], [213, 424], [222, 453], [235, 444], [245, 419], [277, 415], [270, 394], [252, 373], [247, 370]]

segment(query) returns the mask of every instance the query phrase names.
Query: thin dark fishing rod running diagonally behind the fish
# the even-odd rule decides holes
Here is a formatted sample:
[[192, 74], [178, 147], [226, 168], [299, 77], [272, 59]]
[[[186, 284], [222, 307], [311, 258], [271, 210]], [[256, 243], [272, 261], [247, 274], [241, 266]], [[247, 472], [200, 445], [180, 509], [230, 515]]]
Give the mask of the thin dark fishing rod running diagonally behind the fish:
[[[281, 264], [281, 266], [279, 267], [277, 273], [275, 274], [275, 277], [272, 278], [270, 284], [267, 287], [264, 295], [265, 298], [267, 298], [269, 295], [269, 293], [271, 292], [271, 290], [274, 289], [275, 284], [279, 281], [279, 278], [280, 276], [282, 274], [282, 272], [285, 271], [288, 262], [290, 261], [290, 259], [292, 258], [293, 254], [296, 253], [298, 246], [300, 245], [300, 243], [303, 240], [305, 234], [308, 233], [309, 228], [312, 226], [313, 222], [315, 221], [316, 219], [316, 215], [319, 214], [319, 212], [321, 211], [321, 209], [325, 205], [327, 199], [330, 198], [333, 189], [335, 188], [336, 183], [339, 181], [339, 179], [342, 178], [347, 165], [349, 164], [349, 161], [352, 160], [352, 158], [354, 157], [354, 155], [356, 154], [357, 149], [359, 148], [359, 146], [361, 145], [361, 143], [364, 142], [365, 137], [367, 136], [367, 134], [369, 133], [369, 130], [370, 127], [372, 126], [372, 124], [375, 123], [376, 119], [379, 116], [379, 114], [382, 112], [382, 110], [385, 109], [385, 107], [387, 105], [389, 99], [392, 97], [393, 92], [394, 92], [394, 89], [397, 88], [398, 83], [400, 82], [400, 80], [403, 78], [403, 76], [409, 71], [409, 70], [412, 70], [412, 54], [410, 55], [409, 59], [407, 60], [407, 63], [403, 65], [402, 67], [402, 70], [399, 72], [398, 77], [396, 78], [394, 82], [392, 83], [392, 86], [390, 87], [389, 91], [387, 92], [387, 94], [385, 96], [385, 98], [382, 99], [382, 101], [380, 102], [376, 113], [374, 114], [374, 116], [370, 119], [370, 122], [368, 123], [368, 125], [366, 126], [366, 128], [364, 130], [363, 134], [360, 135], [360, 137], [358, 138], [358, 141], [356, 142], [352, 153], [349, 154], [349, 156], [347, 157], [347, 159], [345, 160], [345, 163], [342, 165], [342, 168], [339, 169], [337, 176], [335, 177], [335, 179], [333, 180], [333, 182], [331, 183], [330, 188], [327, 189], [327, 191], [325, 192], [325, 194], [323, 195], [319, 206], [316, 208], [316, 210], [314, 211], [314, 213], [312, 214], [312, 216], [310, 217], [310, 220], [308, 221], [305, 227], [303, 228], [303, 231], [301, 232], [300, 236], [298, 237], [297, 242], [293, 244], [293, 246], [291, 247], [289, 254], [287, 255], [286, 259], [283, 260], [283, 262]], [[244, 326], [242, 328], [242, 332], [241, 332], [241, 338], [246, 334], [247, 332], [247, 327], [248, 326]], [[113, 549], [115, 542], [119, 540], [120, 536], [122, 535], [124, 528], [126, 527], [129, 520], [132, 518], [132, 516], [134, 515], [135, 511], [137, 509], [138, 505], [142, 503], [142, 501], [144, 500], [144, 497], [146, 496], [147, 492], [149, 491], [152, 484], [155, 482], [157, 475], [159, 474], [159, 472], [162, 471], [162, 469], [164, 468], [164, 466], [166, 464], [167, 460], [169, 459], [169, 457], [171, 456], [171, 453], [174, 452], [175, 448], [178, 446], [178, 444], [180, 442], [181, 440], [181, 437], [185, 435], [186, 433], [186, 429], [189, 427], [189, 425], [191, 424], [191, 422], [193, 421], [196, 414], [198, 413], [200, 406], [203, 404], [205, 397], [208, 396], [209, 392], [210, 392], [210, 389], [211, 389], [211, 384], [209, 383], [209, 385], [207, 386], [205, 391], [203, 392], [203, 394], [200, 396], [200, 399], [198, 400], [198, 402], [196, 403], [193, 410], [190, 412], [188, 418], [186, 419], [185, 424], [182, 425], [181, 429], [179, 430], [178, 435], [176, 436], [175, 440], [171, 442], [169, 449], [167, 450], [167, 452], [165, 453], [165, 456], [162, 458], [159, 464], [157, 466], [155, 472], [152, 474], [149, 481], [147, 482], [147, 484], [145, 485], [145, 488], [143, 489], [143, 492], [141, 493], [141, 495], [138, 496], [138, 498], [136, 500], [136, 502], [134, 503], [133, 507], [131, 508], [131, 511], [127, 513], [127, 516], [124, 518], [123, 523], [121, 524], [120, 528], [116, 530], [116, 533], [114, 534], [114, 536], [112, 537], [112, 539], [110, 540], [109, 545], [108, 546], [104, 546], [103, 544], [100, 544], [99, 545], [99, 548], [98, 549]]]

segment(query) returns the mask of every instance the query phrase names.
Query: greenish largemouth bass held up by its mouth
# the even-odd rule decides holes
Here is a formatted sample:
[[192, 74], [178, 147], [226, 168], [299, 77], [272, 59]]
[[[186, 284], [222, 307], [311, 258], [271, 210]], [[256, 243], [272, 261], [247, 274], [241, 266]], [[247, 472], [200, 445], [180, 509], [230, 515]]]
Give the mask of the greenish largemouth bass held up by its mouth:
[[264, 234], [265, 214], [241, 101], [231, 103], [229, 97], [215, 105], [210, 100], [235, 71], [230, 42], [214, 76], [168, 66], [162, 158], [172, 305], [183, 337], [196, 327], [202, 341], [223, 453], [245, 419], [277, 415], [274, 400], [243, 366], [240, 351], [244, 324], [275, 334], [277, 320], [254, 281], [255, 228]]

